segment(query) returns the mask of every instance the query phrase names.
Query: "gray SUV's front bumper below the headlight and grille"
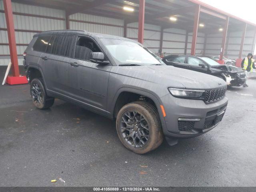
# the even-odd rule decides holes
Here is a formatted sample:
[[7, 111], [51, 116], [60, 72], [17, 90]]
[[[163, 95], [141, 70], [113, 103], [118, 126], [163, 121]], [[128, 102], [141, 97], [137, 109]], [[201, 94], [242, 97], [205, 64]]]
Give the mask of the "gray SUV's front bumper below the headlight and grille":
[[212, 130], [222, 120], [228, 104], [226, 97], [209, 104], [172, 95], [161, 100], [166, 112], [162, 129], [170, 145], [176, 144], [179, 138], [193, 138]]

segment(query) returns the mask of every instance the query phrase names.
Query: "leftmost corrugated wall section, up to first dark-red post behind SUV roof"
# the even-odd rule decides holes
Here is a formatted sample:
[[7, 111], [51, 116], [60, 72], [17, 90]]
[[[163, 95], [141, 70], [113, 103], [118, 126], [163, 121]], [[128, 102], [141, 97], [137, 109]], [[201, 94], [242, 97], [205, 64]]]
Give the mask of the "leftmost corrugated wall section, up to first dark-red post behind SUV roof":
[[[30, 6], [12, 2], [13, 12], [24, 14], [35, 14], [39, 16], [55, 17], [60, 19], [40, 18], [35, 16], [23, 16], [14, 14], [14, 28], [17, 44], [19, 65], [22, 65], [22, 54], [27, 44], [38, 31], [65, 29], [65, 12], [63, 10]], [[0, 11], [4, 10], [3, 1], [0, 0]], [[10, 51], [8, 46], [8, 35], [6, 20], [3, 12], [0, 12], [0, 65], [8, 65], [10, 62]], [[7, 44], [7, 45], [3, 45]]]

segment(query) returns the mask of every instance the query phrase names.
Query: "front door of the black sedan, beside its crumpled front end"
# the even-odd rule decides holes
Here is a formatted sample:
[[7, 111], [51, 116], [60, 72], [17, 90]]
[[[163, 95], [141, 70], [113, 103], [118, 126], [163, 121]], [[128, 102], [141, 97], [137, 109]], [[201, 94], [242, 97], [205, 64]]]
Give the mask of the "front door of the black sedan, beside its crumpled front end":
[[[187, 69], [189, 70], [202, 72], [202, 73], [208, 72], [207, 64], [196, 57], [188, 56], [186, 62], [187, 62]], [[205, 66], [200, 66], [200, 64], [204, 64]]]

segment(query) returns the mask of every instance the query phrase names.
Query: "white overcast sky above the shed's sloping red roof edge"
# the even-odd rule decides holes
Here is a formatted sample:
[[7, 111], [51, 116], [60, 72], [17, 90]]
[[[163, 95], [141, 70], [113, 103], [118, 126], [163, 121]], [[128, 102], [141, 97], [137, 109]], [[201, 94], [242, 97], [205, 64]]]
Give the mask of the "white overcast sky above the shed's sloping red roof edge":
[[[234, 16], [256, 24], [256, 0], [200, 0]], [[256, 54], [256, 49], [254, 50]]]

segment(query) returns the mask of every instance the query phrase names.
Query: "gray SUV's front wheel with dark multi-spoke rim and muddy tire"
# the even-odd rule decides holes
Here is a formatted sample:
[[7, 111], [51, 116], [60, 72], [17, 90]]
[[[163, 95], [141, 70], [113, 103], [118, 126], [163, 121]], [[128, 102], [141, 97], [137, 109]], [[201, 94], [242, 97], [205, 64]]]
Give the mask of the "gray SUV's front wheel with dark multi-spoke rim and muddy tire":
[[146, 102], [123, 106], [116, 118], [116, 131], [122, 144], [138, 154], [156, 149], [163, 141], [158, 113]]

